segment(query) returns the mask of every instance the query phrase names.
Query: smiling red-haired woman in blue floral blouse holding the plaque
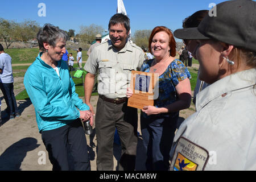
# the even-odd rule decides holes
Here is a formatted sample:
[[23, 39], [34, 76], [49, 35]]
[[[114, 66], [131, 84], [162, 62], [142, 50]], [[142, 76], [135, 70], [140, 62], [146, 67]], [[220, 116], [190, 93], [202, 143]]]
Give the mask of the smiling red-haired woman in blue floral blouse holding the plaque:
[[[141, 131], [147, 150], [147, 170], [168, 170], [172, 140], [179, 110], [191, 104], [191, 77], [184, 64], [175, 59], [176, 42], [169, 28], [155, 27], [148, 48], [154, 59], [145, 60], [141, 71], [159, 75], [159, 97], [154, 106], [144, 106]], [[132, 96], [128, 90], [127, 97]]]

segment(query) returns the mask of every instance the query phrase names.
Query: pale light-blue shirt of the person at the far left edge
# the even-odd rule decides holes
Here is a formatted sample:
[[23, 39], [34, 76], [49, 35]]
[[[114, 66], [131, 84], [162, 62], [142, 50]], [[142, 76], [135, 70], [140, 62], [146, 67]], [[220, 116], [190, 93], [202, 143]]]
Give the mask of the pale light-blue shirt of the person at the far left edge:
[[13, 83], [13, 68], [11, 67], [11, 56], [7, 53], [0, 54], [0, 82], [4, 84]]

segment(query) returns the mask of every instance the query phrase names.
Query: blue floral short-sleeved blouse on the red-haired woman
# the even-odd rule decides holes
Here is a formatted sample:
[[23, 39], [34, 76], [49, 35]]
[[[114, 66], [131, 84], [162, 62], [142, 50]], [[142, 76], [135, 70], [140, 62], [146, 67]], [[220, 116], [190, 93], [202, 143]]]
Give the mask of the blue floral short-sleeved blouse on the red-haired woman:
[[[145, 60], [141, 71], [150, 72], [150, 67], [154, 59]], [[175, 86], [185, 78], [191, 79], [191, 75], [185, 65], [175, 59], [168, 65], [166, 71], [159, 76], [159, 96], [154, 101], [155, 107], [164, 107], [177, 100]]]

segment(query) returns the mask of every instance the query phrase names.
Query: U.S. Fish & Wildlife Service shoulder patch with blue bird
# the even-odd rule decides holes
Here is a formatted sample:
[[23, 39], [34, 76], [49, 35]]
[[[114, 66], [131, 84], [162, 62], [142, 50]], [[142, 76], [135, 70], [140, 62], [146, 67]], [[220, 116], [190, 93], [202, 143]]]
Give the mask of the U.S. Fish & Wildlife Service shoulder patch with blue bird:
[[203, 171], [209, 152], [203, 147], [180, 137], [171, 162], [171, 171]]

